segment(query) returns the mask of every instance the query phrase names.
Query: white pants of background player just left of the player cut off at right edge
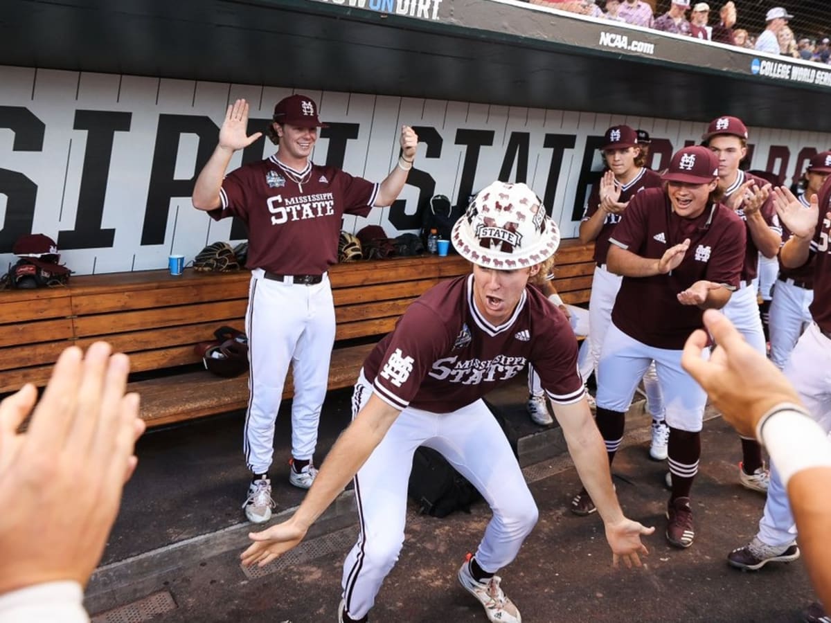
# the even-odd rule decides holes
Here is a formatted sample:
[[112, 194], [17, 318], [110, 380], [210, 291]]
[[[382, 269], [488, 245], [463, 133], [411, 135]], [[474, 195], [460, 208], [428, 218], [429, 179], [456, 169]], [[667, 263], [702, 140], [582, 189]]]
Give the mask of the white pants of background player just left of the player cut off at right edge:
[[770, 361], [784, 370], [799, 336], [811, 323], [809, 305], [814, 301], [814, 290], [794, 286], [794, 280], [779, 279], [770, 302]]

